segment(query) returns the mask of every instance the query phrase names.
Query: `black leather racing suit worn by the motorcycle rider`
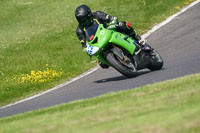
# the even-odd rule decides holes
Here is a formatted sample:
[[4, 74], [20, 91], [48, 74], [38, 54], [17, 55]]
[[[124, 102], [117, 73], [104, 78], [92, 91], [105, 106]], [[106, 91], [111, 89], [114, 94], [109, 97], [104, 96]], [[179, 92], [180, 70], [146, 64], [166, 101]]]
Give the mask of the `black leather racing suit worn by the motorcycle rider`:
[[[104, 27], [107, 27], [108, 26], [107, 24], [109, 24], [114, 20], [114, 16], [107, 15], [102, 11], [93, 12], [92, 15], [93, 15], [93, 20], [92, 20], [93, 25], [103, 24]], [[134, 31], [129, 22], [121, 21], [119, 22], [118, 25], [119, 26], [116, 28], [116, 31], [127, 34], [132, 38], [136, 39], [137, 41], [140, 39], [140, 36], [136, 34], [136, 32]], [[79, 24], [76, 29], [76, 34], [83, 48], [86, 48], [86, 35], [85, 35], [86, 28], [87, 27], [83, 27], [81, 26], [81, 24]]]

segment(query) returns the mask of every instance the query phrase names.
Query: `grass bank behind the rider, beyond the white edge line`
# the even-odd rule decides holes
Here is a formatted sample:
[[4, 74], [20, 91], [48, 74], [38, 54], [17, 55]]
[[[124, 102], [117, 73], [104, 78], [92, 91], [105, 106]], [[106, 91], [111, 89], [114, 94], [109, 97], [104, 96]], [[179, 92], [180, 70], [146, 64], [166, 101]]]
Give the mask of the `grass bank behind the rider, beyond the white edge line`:
[[[0, 106], [63, 83], [96, 65], [82, 52], [76, 37], [74, 11], [78, 5], [87, 3], [93, 11], [103, 10], [120, 21], [128, 20], [144, 33], [177, 12], [185, 1], [1, 0]], [[45, 82], [13, 80], [31, 75], [31, 71], [44, 72], [46, 64], [63, 74], [51, 80], [47, 77]]]

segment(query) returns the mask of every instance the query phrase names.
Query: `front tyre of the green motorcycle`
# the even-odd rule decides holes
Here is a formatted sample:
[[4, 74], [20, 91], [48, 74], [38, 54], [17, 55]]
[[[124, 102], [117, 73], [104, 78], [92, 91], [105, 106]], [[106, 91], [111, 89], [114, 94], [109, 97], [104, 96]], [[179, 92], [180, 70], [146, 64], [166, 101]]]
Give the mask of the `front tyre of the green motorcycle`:
[[135, 69], [135, 66], [133, 66], [132, 69], [126, 67], [116, 58], [116, 56], [112, 52], [109, 52], [107, 54], [106, 59], [113, 68], [115, 68], [118, 72], [122, 73], [124, 76], [129, 78], [137, 76], [137, 70]]

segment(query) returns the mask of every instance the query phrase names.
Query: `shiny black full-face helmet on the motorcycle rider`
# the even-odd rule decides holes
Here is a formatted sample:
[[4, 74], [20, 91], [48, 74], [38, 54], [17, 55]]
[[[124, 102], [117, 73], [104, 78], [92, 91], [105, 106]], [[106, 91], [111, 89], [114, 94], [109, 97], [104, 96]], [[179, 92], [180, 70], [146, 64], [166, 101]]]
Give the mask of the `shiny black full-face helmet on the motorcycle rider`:
[[80, 5], [76, 8], [75, 16], [77, 21], [83, 27], [88, 27], [92, 23], [92, 11], [86, 5]]

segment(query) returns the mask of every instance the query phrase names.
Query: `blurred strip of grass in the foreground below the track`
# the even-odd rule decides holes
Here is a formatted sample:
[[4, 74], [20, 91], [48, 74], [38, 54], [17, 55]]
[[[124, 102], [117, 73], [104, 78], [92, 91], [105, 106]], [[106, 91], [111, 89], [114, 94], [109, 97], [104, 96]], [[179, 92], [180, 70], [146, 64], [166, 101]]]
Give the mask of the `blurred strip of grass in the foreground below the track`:
[[200, 74], [0, 119], [13, 133], [199, 133]]

